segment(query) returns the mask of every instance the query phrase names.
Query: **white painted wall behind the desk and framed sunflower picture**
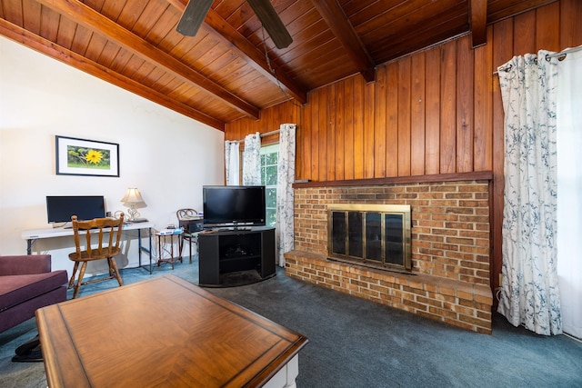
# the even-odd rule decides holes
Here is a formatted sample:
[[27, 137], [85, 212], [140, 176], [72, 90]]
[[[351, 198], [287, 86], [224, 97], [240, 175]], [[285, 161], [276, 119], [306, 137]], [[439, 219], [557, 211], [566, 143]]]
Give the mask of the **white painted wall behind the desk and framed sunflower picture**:
[[[56, 175], [55, 135], [119, 144], [120, 177]], [[115, 212], [137, 187], [141, 216], [163, 229], [180, 207], [202, 210], [203, 184], [224, 184], [223, 132], [0, 36], [0, 254], [25, 254], [22, 231], [51, 227], [46, 195], [105, 195]], [[40, 240], [34, 253], [70, 274], [73, 244]], [[125, 244], [121, 264], [135, 265]]]

